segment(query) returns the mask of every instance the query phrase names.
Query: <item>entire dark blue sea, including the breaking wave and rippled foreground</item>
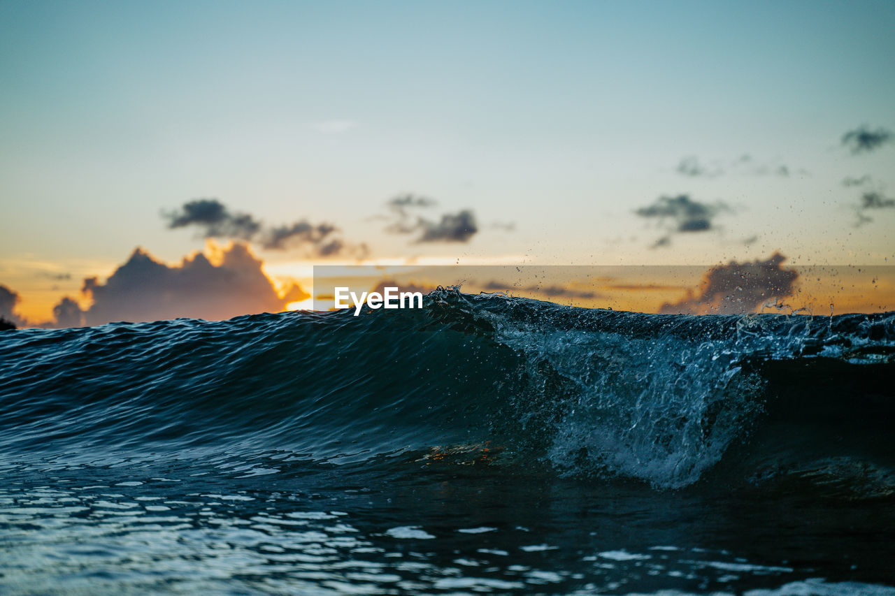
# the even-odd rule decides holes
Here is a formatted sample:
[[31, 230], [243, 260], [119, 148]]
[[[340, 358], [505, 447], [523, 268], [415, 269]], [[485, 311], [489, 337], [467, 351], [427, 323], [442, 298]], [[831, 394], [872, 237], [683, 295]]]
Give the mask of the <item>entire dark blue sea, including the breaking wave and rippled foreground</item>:
[[0, 593], [895, 594], [895, 313], [0, 333]]

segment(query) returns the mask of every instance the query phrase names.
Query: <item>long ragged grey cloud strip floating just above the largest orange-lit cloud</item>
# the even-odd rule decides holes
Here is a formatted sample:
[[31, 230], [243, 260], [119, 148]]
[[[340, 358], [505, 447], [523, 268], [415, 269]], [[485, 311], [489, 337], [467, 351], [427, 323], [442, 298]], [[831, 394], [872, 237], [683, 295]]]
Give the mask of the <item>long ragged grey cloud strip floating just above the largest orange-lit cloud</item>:
[[282, 226], [264, 226], [247, 213], [232, 213], [217, 199], [191, 200], [181, 209], [164, 213], [163, 217], [172, 229], [199, 227], [206, 238], [259, 242], [268, 251], [298, 247], [309, 250], [315, 257], [345, 253], [362, 258], [367, 254], [366, 245], [346, 243], [339, 237], [338, 227], [332, 224], [312, 224], [302, 219]]

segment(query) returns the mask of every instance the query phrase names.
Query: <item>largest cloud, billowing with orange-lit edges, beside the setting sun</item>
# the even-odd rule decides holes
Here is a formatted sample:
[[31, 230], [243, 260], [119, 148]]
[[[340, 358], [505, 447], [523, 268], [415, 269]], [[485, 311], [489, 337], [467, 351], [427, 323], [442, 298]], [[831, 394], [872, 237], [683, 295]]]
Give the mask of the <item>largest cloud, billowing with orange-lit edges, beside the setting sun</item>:
[[[84, 280], [83, 293], [93, 303], [83, 312], [84, 322], [145, 321], [190, 317], [230, 319], [253, 312], [282, 311], [277, 296], [261, 271], [261, 261], [244, 244], [234, 243], [213, 264], [197, 253], [173, 267], [142, 249], [133, 251], [106, 283], [96, 277]], [[68, 315], [66, 307], [61, 314]]]

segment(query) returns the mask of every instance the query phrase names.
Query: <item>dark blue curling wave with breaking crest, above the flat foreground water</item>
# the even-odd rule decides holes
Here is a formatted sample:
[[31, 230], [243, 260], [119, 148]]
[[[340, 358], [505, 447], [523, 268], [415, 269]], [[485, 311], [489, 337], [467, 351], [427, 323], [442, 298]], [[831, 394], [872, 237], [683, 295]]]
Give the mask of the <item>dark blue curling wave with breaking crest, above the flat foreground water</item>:
[[[369, 464], [487, 442], [510, 469], [660, 489], [871, 463], [887, 477], [893, 362], [893, 313], [649, 315], [454, 290], [357, 318], [22, 330], [0, 336], [0, 450]], [[832, 449], [831, 421], [855, 440]]]

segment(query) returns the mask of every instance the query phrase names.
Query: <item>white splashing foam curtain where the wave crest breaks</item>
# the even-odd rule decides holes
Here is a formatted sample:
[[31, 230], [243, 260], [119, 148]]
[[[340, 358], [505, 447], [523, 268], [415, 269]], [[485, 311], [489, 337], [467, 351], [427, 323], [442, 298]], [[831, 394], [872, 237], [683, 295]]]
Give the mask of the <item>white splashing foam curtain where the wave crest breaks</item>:
[[[759, 381], [736, 365], [727, 341], [507, 321], [497, 328], [498, 340], [526, 353], [526, 362], [546, 360], [575, 383], [574, 407], [558, 422], [549, 450], [550, 462], [567, 473], [584, 466], [684, 487], [720, 460], [755, 407], [749, 397]], [[533, 367], [531, 374], [540, 372]], [[724, 407], [714, 415], [718, 404]]]

